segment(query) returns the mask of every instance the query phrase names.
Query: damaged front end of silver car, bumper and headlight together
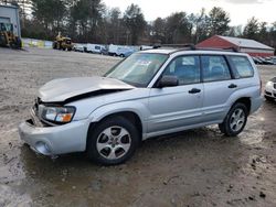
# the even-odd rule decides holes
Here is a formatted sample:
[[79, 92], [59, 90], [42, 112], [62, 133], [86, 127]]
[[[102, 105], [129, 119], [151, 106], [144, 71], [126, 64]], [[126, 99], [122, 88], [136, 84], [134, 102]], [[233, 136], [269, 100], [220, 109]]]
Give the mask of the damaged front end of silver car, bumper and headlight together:
[[75, 107], [45, 103], [38, 98], [31, 118], [19, 126], [20, 138], [39, 154], [59, 154], [85, 151], [89, 120], [73, 121]]

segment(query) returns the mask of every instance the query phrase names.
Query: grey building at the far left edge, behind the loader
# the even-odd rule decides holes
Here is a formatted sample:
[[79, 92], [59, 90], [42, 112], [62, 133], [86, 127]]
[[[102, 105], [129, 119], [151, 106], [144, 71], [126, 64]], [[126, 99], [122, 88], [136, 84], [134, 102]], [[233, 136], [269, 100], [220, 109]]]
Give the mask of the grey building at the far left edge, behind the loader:
[[0, 22], [11, 23], [13, 25], [14, 35], [21, 39], [21, 28], [20, 28], [18, 7], [0, 4]]

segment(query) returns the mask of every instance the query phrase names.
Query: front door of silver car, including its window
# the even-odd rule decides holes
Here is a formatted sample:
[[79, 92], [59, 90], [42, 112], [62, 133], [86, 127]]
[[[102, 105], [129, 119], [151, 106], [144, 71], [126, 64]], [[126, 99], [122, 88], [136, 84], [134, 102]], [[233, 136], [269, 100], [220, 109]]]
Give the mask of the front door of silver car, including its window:
[[200, 80], [200, 57], [179, 56], [171, 61], [163, 75], [176, 76], [179, 86], [151, 88], [148, 132], [176, 130], [201, 121], [203, 85]]

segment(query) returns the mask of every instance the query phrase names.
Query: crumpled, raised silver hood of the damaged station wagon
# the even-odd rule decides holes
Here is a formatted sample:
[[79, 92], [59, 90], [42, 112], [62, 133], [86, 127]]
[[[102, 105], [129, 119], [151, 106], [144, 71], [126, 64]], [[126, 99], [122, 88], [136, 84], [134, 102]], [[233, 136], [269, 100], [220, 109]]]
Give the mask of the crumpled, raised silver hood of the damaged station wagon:
[[43, 102], [62, 102], [81, 95], [93, 92], [103, 94], [112, 90], [128, 90], [135, 88], [118, 79], [107, 77], [74, 77], [54, 79], [46, 83], [39, 90], [39, 97]]

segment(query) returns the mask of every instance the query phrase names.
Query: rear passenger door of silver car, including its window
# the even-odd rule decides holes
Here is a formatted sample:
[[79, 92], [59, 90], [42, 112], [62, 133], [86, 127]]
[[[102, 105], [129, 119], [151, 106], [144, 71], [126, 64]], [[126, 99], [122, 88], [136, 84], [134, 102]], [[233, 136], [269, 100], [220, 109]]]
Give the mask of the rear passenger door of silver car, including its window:
[[227, 100], [237, 89], [230, 64], [223, 55], [202, 55], [202, 80], [204, 88], [204, 122], [223, 120], [229, 110]]

